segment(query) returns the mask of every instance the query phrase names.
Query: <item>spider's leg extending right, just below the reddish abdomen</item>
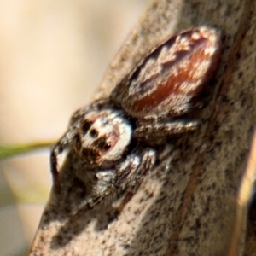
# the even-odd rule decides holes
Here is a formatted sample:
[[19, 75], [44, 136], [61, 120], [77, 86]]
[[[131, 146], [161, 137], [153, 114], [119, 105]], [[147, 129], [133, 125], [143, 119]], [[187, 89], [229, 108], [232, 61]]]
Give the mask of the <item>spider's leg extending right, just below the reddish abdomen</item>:
[[166, 140], [166, 137], [195, 131], [199, 125], [199, 120], [191, 119], [163, 119], [151, 123], [143, 122], [137, 124], [133, 136], [139, 141], [161, 144]]

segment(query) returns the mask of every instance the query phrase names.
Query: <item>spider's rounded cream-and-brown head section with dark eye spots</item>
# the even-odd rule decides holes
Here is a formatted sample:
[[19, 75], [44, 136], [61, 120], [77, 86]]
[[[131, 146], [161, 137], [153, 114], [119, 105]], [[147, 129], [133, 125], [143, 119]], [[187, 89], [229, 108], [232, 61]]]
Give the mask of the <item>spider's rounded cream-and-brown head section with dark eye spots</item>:
[[131, 124], [121, 110], [102, 109], [84, 114], [75, 134], [74, 149], [84, 164], [102, 166], [119, 160], [131, 143]]

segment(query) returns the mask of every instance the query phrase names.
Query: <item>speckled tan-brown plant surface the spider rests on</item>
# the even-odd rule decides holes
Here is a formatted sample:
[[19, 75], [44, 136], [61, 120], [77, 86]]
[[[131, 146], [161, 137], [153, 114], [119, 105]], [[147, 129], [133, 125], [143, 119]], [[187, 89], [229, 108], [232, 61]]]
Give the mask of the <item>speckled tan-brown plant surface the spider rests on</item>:
[[[74, 222], [70, 216], [83, 201], [84, 188], [73, 178], [71, 151], [61, 168], [64, 189], [52, 191], [30, 255], [229, 254], [255, 120], [256, 2], [152, 1], [96, 97], [108, 95], [163, 38], [202, 25], [216, 27], [223, 46], [199, 131], [166, 143], [160, 166], [119, 215], [100, 206]], [[245, 230], [237, 255], [244, 254]], [[247, 255], [253, 255], [253, 240], [247, 236]]]

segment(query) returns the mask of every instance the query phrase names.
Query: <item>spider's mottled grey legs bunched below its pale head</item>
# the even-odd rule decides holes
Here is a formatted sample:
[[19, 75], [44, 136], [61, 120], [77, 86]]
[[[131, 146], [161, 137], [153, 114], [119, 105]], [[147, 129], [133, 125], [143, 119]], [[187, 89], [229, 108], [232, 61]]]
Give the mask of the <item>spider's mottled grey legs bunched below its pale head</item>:
[[102, 202], [109, 202], [113, 200], [117, 195], [125, 193], [123, 201], [121, 201], [118, 210], [121, 211], [125, 204], [131, 200], [132, 195], [137, 192], [143, 178], [152, 169], [155, 162], [155, 152], [151, 148], [139, 148], [135, 153], [129, 154], [125, 160], [119, 162], [115, 166], [114, 170], [102, 171], [105, 175], [102, 175], [101, 171], [96, 171], [96, 178], [104, 178], [106, 172], [113, 173], [113, 178], [110, 180], [109, 176], [106, 181], [98, 180], [93, 188], [92, 195], [88, 195], [88, 200], [85, 201], [83, 207], [79, 209], [79, 212], [75, 213], [72, 217], [72, 221], [76, 220], [80, 216], [84, 215], [88, 210], [93, 209]]

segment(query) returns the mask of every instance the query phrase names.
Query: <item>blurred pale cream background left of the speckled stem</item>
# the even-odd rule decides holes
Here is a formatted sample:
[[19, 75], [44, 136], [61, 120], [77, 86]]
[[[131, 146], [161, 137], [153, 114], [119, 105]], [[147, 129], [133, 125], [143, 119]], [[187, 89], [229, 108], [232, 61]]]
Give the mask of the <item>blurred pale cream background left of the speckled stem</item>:
[[[0, 147], [61, 137], [147, 2], [0, 1]], [[0, 170], [0, 255], [26, 255], [49, 196], [49, 148]]]

